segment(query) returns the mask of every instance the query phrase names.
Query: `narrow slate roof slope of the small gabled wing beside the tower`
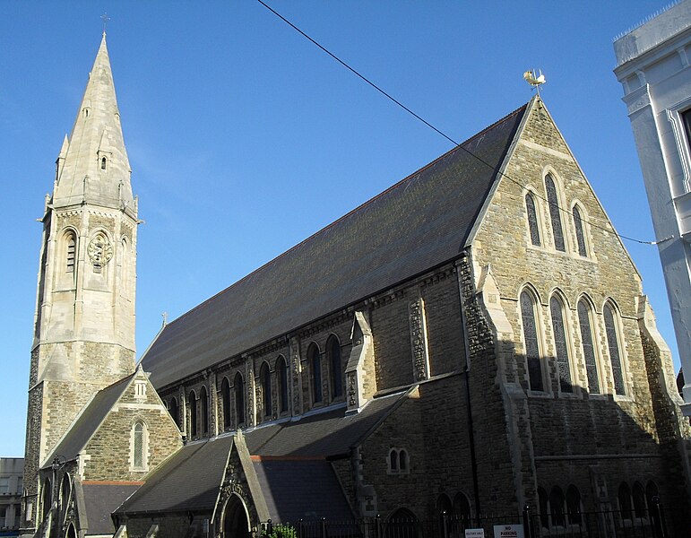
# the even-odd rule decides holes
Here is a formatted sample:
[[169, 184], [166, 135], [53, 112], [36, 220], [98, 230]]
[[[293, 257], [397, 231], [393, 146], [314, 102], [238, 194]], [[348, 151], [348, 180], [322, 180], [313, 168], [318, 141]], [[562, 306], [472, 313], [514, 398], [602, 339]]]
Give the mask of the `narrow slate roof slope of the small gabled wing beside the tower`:
[[91, 402], [82, 410], [82, 414], [77, 416], [72, 425], [67, 429], [65, 437], [60, 440], [53, 453], [48, 456], [46, 465], [43, 468], [47, 468], [50, 465], [54, 455], [64, 456], [67, 461], [79, 456], [79, 453], [86, 447], [91, 436], [99, 429], [101, 422], [104, 421], [113, 405], [123, 395], [132, 377], [134, 377], [134, 374], [123, 377], [113, 385], [99, 390], [94, 395]]

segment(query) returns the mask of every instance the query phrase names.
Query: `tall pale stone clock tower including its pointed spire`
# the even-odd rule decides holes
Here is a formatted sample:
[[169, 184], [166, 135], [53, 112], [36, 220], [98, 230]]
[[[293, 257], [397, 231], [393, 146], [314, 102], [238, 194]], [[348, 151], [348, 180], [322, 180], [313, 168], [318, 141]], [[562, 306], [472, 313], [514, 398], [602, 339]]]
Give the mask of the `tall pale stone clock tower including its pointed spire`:
[[42, 218], [22, 527], [36, 527], [38, 470], [101, 388], [134, 371], [137, 199], [100, 42]]

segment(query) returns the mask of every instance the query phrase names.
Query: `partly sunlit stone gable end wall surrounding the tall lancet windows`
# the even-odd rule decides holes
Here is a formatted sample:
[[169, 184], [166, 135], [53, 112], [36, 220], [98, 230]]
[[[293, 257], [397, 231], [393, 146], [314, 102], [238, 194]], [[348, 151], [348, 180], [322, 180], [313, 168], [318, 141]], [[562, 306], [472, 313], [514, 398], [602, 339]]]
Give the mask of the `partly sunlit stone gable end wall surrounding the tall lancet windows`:
[[[554, 247], [553, 229], [544, 178], [557, 184], [559, 205], [581, 208], [588, 256], [580, 256], [574, 220], [560, 212], [566, 252]], [[537, 483], [546, 490], [573, 483], [584, 503], [592, 499], [590, 466], [608, 478], [609, 489], [618, 481], [644, 480], [659, 469], [659, 432], [652, 393], [645, 369], [643, 343], [637, 326], [636, 305], [641, 281], [583, 172], [540, 101], [525, 124], [505, 174], [473, 242], [475, 273], [491, 266], [505, 311], [516, 335], [515, 364], [518, 381], [527, 397], [531, 445]], [[534, 193], [540, 221], [541, 246], [531, 245], [525, 194]], [[538, 334], [546, 388], [531, 392], [523, 348], [519, 295], [530, 285], [538, 297]], [[573, 393], [560, 390], [549, 299], [557, 292], [566, 305], [567, 345], [574, 383]], [[593, 309], [592, 333], [600, 368], [600, 391], [591, 395], [583, 359], [579, 299], [587, 296]], [[622, 351], [626, 395], [615, 395], [609, 346], [602, 317], [610, 301], [618, 313], [618, 339]], [[619, 459], [612, 459], [616, 455]], [[557, 463], [566, 458], [568, 465]], [[623, 458], [623, 459], [622, 459]], [[628, 458], [628, 459], [626, 459]], [[655, 473], [656, 474], [656, 473]], [[660, 480], [660, 479], [659, 479]], [[659, 484], [660, 485], [660, 484]], [[531, 497], [530, 490], [525, 490]], [[610, 491], [610, 496], [611, 496]], [[533, 502], [535, 500], [533, 499]], [[592, 505], [587, 508], [592, 508]]]

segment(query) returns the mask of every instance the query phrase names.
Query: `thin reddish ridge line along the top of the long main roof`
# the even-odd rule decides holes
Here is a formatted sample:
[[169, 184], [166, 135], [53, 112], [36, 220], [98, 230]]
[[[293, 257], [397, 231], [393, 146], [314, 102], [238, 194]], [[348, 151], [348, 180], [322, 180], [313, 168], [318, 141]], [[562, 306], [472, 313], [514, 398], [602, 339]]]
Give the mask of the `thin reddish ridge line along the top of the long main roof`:
[[[527, 108], [528, 105], [530, 104], [530, 102], [531, 102], [531, 101], [528, 101], [527, 103], [523, 104], [521, 107], [516, 108], [513, 112], [510, 112], [510, 113], [506, 114], [504, 117], [501, 117], [501, 118], [497, 119], [497, 121], [495, 121], [495, 122], [492, 123], [491, 125], [485, 127], [484, 129], [482, 129], [482, 130], [479, 131], [478, 133], [473, 134], [470, 138], [468, 138], [467, 140], [463, 141], [462, 143], [459, 143], [458, 145], [454, 146], [454, 147], [451, 148], [449, 151], [447, 151], [447, 152], [443, 153], [442, 155], [440, 155], [439, 157], [437, 157], [434, 161], [428, 162], [428, 164], [426, 164], [426, 165], [423, 166], [422, 168], [417, 169], [417, 170], [415, 170], [414, 172], [410, 173], [410, 174], [409, 174], [408, 176], [406, 176], [405, 178], [402, 178], [401, 180], [397, 181], [397, 182], [394, 183], [391, 187], [388, 187], [388, 188], [384, 189], [384, 191], [382, 191], [381, 193], [379, 193], [379, 194], [377, 194], [377, 195], [374, 195], [373, 197], [369, 198], [367, 201], [363, 202], [362, 204], [359, 204], [357, 207], [355, 207], [354, 209], [350, 210], [350, 212], [345, 213], [344, 215], [342, 215], [341, 217], [339, 217], [339, 218], [336, 219], [335, 221], [330, 222], [329, 224], [327, 224], [326, 226], [324, 226], [324, 228], [315, 231], [315, 233], [313, 233], [311, 236], [307, 237], [307, 239], [303, 239], [303, 240], [300, 241], [298, 244], [293, 245], [293, 246], [290, 247], [288, 250], [283, 251], [280, 255], [278, 255], [278, 256], [276, 256], [276, 257], [273, 257], [271, 260], [269, 260], [269, 261], [266, 262], [265, 264], [260, 265], [259, 267], [257, 267], [257, 268], [256, 268], [254, 271], [252, 271], [251, 273], [247, 273], [247, 274], [246, 274], [245, 276], [243, 276], [240, 280], [238, 280], [238, 281], [236, 281], [236, 282], [233, 282], [232, 284], [230, 284], [228, 287], [224, 288], [223, 290], [220, 290], [220, 291], [214, 293], [211, 297], [209, 297], [209, 298], [207, 298], [207, 299], [204, 299], [201, 303], [197, 304], [194, 308], [190, 308], [190, 309], [187, 310], [184, 314], [181, 314], [180, 316], [176, 317], [173, 321], [171, 321], [171, 322], [169, 322], [167, 325], [165, 325], [165, 327], [163, 327], [163, 331], [161, 331], [161, 333], [164, 332], [164, 330], [167, 329], [168, 327], [170, 327], [171, 325], [175, 325], [175, 324], [177, 323], [177, 321], [180, 321], [180, 320], [184, 319], [185, 317], [187, 317], [187, 316], [189, 316], [190, 314], [192, 314], [194, 311], [198, 310], [199, 308], [202, 308], [202, 307], [203, 307], [204, 305], [206, 305], [207, 303], [212, 302], [213, 299], [218, 298], [220, 295], [222, 295], [222, 294], [225, 293], [226, 291], [229, 291], [229, 290], [231, 290], [232, 288], [234, 288], [235, 286], [238, 286], [241, 282], [245, 282], [247, 279], [251, 278], [251, 277], [254, 276], [255, 274], [262, 272], [266, 267], [268, 267], [268, 266], [274, 264], [275, 262], [277, 262], [278, 260], [280, 260], [282, 257], [288, 256], [289, 253], [293, 252], [293, 251], [296, 250], [298, 247], [301, 247], [302, 245], [305, 245], [305, 244], [308, 243], [309, 241], [315, 239], [315, 237], [321, 235], [321, 234], [324, 233], [326, 230], [330, 230], [331, 228], [333, 228], [333, 227], [334, 227], [336, 224], [338, 224], [339, 222], [344, 221], [344, 220], [346, 220], [347, 218], [349, 218], [352, 214], [358, 213], [358, 212], [359, 212], [360, 210], [362, 210], [364, 207], [367, 207], [368, 205], [373, 204], [373, 203], [374, 203], [376, 200], [378, 200], [379, 198], [383, 197], [383, 196], [386, 195], [387, 193], [392, 192], [393, 190], [395, 190], [396, 188], [400, 187], [400, 186], [401, 186], [402, 184], [404, 184], [405, 182], [409, 181], [410, 178], [413, 178], [413, 177], [415, 177], [416, 175], [418, 175], [420, 172], [422, 172], [422, 171], [424, 171], [424, 170], [426, 170], [426, 169], [429, 169], [430, 167], [432, 167], [433, 165], [435, 165], [437, 162], [442, 161], [442, 160], [445, 159], [447, 156], [451, 155], [453, 152], [456, 152], [456, 151], [462, 149], [462, 146], [471, 143], [473, 140], [479, 138], [479, 137], [482, 136], [483, 134], [486, 134], [488, 131], [490, 131], [491, 129], [495, 128], [495, 127], [498, 126], [499, 124], [502, 124], [502, 123], [504, 123], [505, 121], [507, 121], [508, 119], [510, 119], [510, 118], [512, 118], [512, 117], [514, 117], [514, 116], [516, 116], [517, 114], [519, 114], [520, 112], [522, 112], [525, 108]], [[159, 336], [159, 334], [157, 334], [157, 337], [158, 337], [158, 336]], [[150, 347], [151, 347], [151, 346], [150, 346]], [[147, 351], [148, 351], [148, 349], [147, 349]], [[142, 359], [143, 359], [143, 357], [142, 357]]]

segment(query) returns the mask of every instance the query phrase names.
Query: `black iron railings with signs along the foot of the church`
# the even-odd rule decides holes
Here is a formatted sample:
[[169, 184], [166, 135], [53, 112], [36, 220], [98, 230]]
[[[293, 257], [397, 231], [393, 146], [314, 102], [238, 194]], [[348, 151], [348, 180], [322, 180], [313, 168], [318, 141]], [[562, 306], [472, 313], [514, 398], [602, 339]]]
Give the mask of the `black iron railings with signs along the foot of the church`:
[[[479, 531], [481, 529], [481, 532]], [[345, 521], [312, 519], [261, 525], [262, 538], [685, 538], [691, 515], [684, 509], [608, 510], [539, 514], [530, 508], [506, 516], [453, 516], [436, 520], [370, 517]]]

